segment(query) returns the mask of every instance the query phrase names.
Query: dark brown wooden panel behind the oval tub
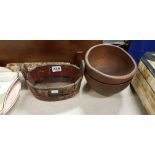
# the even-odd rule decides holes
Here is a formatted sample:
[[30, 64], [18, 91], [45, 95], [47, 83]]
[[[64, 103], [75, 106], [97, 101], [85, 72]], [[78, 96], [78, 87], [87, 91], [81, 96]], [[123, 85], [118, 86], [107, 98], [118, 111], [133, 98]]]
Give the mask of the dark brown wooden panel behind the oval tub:
[[102, 40], [1, 40], [0, 65], [20, 62], [76, 63], [75, 53], [86, 52]]

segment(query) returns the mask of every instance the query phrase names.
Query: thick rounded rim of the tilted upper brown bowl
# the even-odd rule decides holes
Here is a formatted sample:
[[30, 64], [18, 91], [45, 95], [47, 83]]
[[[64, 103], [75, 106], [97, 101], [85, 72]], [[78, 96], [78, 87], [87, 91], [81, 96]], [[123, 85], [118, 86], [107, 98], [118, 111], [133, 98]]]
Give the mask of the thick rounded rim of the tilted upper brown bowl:
[[[97, 70], [95, 67], [93, 67], [90, 63], [89, 63], [89, 60], [88, 60], [88, 56], [90, 54], [90, 52], [97, 48], [97, 47], [101, 47], [101, 46], [108, 46], [108, 47], [114, 47], [114, 48], [117, 48], [117, 49], [120, 49], [122, 52], [124, 52], [125, 54], [127, 54], [127, 56], [131, 59], [131, 61], [133, 62], [134, 64], [134, 69], [129, 73], [129, 74], [126, 74], [126, 75], [121, 75], [121, 76], [113, 76], [113, 75], [108, 75], [108, 74], [105, 74], [99, 70]], [[111, 79], [116, 79], [116, 80], [125, 80], [125, 79], [128, 79], [128, 78], [132, 78], [132, 76], [135, 74], [136, 70], [137, 70], [137, 64], [135, 62], [135, 60], [132, 58], [132, 56], [127, 52], [125, 51], [123, 48], [121, 47], [118, 47], [118, 46], [115, 46], [115, 45], [110, 45], [110, 44], [98, 44], [98, 45], [95, 45], [95, 46], [92, 46], [91, 48], [88, 49], [88, 51], [86, 52], [86, 55], [85, 55], [85, 62], [86, 62], [86, 65], [93, 71], [95, 71], [96, 73], [104, 76], [104, 77], [107, 77], [107, 78], [111, 78]]]

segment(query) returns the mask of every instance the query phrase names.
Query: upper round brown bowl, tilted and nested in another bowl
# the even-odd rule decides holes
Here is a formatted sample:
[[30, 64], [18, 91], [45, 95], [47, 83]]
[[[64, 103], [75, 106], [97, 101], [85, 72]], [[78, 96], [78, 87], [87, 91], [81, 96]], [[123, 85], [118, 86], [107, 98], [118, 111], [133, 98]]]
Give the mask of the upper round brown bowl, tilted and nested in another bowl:
[[90, 48], [85, 55], [86, 71], [94, 79], [107, 84], [130, 81], [137, 65], [122, 48], [99, 44]]

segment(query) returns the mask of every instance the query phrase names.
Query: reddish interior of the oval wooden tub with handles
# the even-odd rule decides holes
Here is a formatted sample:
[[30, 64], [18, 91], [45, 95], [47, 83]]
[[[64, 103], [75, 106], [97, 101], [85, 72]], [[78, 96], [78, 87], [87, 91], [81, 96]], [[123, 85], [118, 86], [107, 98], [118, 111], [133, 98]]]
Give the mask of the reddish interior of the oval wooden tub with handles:
[[61, 88], [74, 83], [80, 77], [80, 69], [70, 65], [59, 66], [59, 71], [53, 71], [51, 66], [37, 67], [28, 73], [28, 81], [42, 89]]

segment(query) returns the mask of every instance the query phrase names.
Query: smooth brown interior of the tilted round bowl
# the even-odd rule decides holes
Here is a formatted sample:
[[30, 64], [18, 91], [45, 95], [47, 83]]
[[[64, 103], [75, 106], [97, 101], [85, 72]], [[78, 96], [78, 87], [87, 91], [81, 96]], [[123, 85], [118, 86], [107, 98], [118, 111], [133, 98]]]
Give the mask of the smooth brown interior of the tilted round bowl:
[[127, 75], [135, 68], [130, 56], [115, 46], [95, 47], [89, 53], [88, 61], [96, 70], [111, 76]]

